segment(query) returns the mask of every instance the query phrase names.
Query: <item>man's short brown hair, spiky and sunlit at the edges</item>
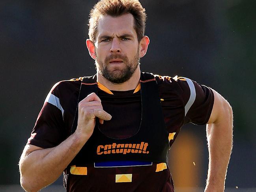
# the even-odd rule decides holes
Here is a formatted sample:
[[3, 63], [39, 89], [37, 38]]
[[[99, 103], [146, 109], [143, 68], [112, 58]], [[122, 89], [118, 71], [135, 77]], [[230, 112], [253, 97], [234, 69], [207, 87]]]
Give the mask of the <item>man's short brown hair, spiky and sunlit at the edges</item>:
[[89, 38], [95, 43], [95, 35], [99, 17], [101, 15], [110, 15], [118, 17], [125, 13], [131, 13], [134, 17], [134, 28], [138, 36], [138, 41], [142, 39], [145, 32], [146, 13], [138, 0], [100, 0], [90, 11], [89, 19]]

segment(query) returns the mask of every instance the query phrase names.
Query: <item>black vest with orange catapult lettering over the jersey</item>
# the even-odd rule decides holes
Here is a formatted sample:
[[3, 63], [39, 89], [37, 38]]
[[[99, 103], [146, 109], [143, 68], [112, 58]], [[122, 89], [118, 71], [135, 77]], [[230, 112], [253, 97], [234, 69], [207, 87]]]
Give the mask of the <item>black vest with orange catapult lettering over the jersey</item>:
[[[169, 150], [168, 132], [164, 124], [155, 77], [150, 73], [141, 73], [140, 87], [142, 120], [138, 132], [129, 138], [110, 138], [99, 130], [99, 122], [96, 121], [92, 136], [71, 161], [70, 165], [83, 166], [87, 163], [107, 161], [167, 163]], [[80, 87], [78, 103], [93, 92], [97, 94], [96, 75], [84, 77]], [[75, 132], [77, 119], [78, 108], [71, 134]]]

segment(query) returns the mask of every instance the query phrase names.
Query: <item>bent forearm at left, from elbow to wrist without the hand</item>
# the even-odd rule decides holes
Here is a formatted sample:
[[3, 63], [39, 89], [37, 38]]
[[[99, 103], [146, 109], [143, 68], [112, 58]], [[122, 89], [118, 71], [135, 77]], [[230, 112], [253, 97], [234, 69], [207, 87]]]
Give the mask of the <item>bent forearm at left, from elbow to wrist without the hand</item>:
[[[56, 181], [87, 140], [75, 133], [56, 147], [22, 153], [19, 164], [22, 187], [36, 192]], [[24, 151], [29, 151], [26, 147]]]

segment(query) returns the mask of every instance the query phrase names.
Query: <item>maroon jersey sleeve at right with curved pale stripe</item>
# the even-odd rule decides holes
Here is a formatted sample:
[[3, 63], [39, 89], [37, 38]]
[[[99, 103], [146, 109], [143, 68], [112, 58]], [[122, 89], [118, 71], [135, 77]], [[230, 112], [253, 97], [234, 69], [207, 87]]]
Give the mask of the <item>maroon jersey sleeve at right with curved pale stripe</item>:
[[184, 124], [189, 122], [196, 125], [206, 124], [211, 116], [214, 103], [212, 89], [189, 78], [178, 77], [178, 82], [183, 89]]

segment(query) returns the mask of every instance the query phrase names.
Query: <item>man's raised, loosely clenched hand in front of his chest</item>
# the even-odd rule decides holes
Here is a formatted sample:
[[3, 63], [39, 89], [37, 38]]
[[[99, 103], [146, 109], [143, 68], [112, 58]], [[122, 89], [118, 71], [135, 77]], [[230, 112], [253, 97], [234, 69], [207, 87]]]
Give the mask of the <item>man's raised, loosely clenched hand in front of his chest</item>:
[[76, 132], [90, 138], [95, 127], [96, 117], [99, 118], [99, 123], [101, 124], [103, 124], [104, 120], [108, 121], [111, 119], [111, 115], [103, 110], [101, 99], [95, 93], [91, 93], [78, 103]]

